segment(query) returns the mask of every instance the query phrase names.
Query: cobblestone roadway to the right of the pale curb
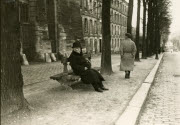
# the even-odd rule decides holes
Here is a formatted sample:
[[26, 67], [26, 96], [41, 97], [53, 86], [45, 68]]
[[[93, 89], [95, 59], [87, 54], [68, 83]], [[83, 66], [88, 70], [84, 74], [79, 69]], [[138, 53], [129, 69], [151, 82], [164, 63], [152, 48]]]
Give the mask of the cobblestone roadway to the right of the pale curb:
[[166, 53], [139, 125], [180, 125], [180, 53]]

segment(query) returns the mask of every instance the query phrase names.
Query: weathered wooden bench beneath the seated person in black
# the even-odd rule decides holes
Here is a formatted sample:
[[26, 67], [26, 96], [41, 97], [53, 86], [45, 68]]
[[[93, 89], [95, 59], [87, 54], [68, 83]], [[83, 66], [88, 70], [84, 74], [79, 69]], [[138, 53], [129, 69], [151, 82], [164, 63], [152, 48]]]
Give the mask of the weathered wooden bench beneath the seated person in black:
[[[85, 58], [88, 58], [91, 61], [91, 54], [85, 54]], [[71, 85], [74, 85], [78, 82], [81, 82], [81, 78], [78, 75], [75, 75], [72, 70], [68, 70], [67, 66], [69, 65], [67, 55], [64, 55], [61, 59], [63, 64], [63, 72], [56, 74], [50, 77], [50, 79], [58, 81], [66, 89], [72, 89]], [[93, 69], [100, 71], [100, 67], [93, 67]]]

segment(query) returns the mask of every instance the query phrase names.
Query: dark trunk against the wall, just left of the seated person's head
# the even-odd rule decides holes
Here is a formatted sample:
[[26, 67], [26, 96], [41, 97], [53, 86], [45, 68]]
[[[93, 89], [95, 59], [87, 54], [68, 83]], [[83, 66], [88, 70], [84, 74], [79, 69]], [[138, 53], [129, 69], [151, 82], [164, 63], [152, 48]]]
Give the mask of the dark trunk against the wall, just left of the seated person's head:
[[47, 20], [49, 39], [51, 40], [51, 50], [53, 53], [59, 52], [58, 20], [57, 20], [57, 1], [47, 0]]

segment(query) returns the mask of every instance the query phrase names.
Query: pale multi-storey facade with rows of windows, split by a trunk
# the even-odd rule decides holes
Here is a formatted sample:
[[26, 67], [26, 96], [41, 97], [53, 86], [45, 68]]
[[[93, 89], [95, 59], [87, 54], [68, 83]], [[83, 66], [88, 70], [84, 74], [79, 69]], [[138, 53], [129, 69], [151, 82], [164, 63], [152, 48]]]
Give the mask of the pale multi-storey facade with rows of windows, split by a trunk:
[[[101, 0], [81, 0], [81, 16], [83, 22], [83, 38], [86, 49], [91, 52], [101, 52], [102, 20]], [[125, 0], [111, 1], [111, 50], [118, 52], [120, 41], [124, 39], [127, 30], [128, 3]]]

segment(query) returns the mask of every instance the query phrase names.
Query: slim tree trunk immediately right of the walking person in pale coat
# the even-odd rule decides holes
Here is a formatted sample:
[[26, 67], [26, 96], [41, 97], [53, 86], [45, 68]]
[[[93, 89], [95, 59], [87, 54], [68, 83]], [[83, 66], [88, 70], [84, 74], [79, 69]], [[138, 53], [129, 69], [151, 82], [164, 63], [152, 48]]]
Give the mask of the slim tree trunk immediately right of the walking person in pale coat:
[[137, 47], [137, 53], [136, 53], [136, 57], [135, 60], [136, 61], [140, 61], [139, 59], [139, 29], [140, 29], [140, 4], [141, 4], [141, 0], [138, 0], [137, 3], [137, 24], [136, 24], [136, 47]]

